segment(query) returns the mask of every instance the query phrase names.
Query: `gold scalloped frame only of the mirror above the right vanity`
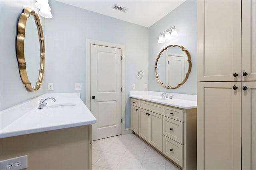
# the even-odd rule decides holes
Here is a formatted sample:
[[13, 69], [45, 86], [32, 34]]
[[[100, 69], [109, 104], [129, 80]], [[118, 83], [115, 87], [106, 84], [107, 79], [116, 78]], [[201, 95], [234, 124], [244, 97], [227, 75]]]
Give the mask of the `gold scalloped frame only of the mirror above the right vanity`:
[[[186, 53], [186, 55], [188, 56], [188, 72], [186, 73], [186, 77], [184, 78], [184, 80], [181, 82], [181, 83], [178, 83], [177, 86], [175, 87], [171, 87], [171, 86], [165, 86], [164, 83], [162, 83], [159, 78], [158, 78], [158, 74], [156, 72], [156, 69], [157, 69], [157, 62], [158, 62], [158, 59], [160, 59], [160, 55], [169, 47], [180, 47], [182, 49], [182, 51], [184, 51]], [[156, 76], [156, 80], [159, 84], [161, 84], [164, 88], [166, 89], [177, 89], [178, 87], [180, 87], [180, 85], [184, 84], [187, 79], [188, 79], [188, 74], [190, 73], [191, 71], [191, 61], [190, 61], [190, 54], [188, 53], [188, 50], [184, 49], [184, 47], [182, 45], [168, 45], [167, 47], [165, 47], [164, 49], [162, 49], [162, 51], [160, 51], [160, 53], [158, 54], [158, 57], [156, 58], [156, 63], [155, 63], [155, 76]]]

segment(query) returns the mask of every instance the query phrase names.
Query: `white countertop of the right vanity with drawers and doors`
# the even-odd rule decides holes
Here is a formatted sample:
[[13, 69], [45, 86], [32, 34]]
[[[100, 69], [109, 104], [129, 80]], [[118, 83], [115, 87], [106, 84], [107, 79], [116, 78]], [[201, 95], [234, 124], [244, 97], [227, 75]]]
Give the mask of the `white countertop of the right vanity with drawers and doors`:
[[173, 96], [172, 99], [162, 98], [161, 92], [156, 91], [130, 91], [129, 97], [179, 107], [182, 109], [197, 108], [197, 96], [186, 95], [180, 93], [167, 93], [168, 96]]

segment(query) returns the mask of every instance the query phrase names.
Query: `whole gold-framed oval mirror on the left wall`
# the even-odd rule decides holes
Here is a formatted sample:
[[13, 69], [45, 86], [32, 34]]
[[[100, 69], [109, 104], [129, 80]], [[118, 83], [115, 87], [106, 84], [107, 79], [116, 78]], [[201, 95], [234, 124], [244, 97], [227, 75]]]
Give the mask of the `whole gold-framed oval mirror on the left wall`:
[[28, 91], [38, 90], [44, 76], [44, 36], [40, 18], [31, 8], [20, 14], [16, 50], [22, 82]]

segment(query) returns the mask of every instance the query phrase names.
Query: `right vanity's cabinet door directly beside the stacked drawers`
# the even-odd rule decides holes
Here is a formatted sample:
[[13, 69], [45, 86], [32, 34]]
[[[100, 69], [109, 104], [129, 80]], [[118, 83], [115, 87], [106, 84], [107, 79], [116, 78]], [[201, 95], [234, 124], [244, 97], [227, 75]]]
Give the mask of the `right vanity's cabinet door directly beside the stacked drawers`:
[[149, 143], [163, 151], [163, 116], [153, 112], [149, 115]]

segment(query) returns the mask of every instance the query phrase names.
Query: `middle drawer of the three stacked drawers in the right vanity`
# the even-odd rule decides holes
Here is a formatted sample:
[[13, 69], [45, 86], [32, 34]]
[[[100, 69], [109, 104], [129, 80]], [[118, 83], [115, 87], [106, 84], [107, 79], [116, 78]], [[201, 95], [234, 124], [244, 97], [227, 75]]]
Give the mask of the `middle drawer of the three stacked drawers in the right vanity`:
[[164, 117], [163, 121], [163, 134], [183, 144], [183, 123], [168, 117]]

